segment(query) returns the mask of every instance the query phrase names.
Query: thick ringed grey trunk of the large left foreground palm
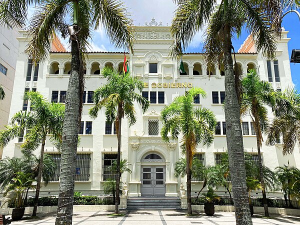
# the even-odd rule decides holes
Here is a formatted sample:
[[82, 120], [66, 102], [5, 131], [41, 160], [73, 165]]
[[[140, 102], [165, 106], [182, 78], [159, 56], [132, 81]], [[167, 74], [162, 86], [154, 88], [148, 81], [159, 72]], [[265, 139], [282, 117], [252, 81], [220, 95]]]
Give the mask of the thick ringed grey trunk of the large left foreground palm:
[[62, 130], [61, 167], [55, 224], [72, 224], [74, 175], [79, 131], [79, 46], [71, 43], [71, 74], [66, 91]]

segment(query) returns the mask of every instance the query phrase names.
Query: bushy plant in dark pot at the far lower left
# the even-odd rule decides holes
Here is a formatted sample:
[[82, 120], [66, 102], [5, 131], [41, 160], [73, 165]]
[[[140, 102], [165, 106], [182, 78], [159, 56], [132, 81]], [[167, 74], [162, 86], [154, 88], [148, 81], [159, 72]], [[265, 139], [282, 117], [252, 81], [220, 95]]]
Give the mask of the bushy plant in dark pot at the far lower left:
[[17, 172], [16, 176], [11, 179], [10, 183], [5, 188], [4, 196], [10, 194], [13, 196], [11, 200], [14, 201], [15, 207], [12, 209], [12, 220], [19, 220], [23, 217], [25, 207], [24, 198], [27, 190], [33, 189], [31, 173]]

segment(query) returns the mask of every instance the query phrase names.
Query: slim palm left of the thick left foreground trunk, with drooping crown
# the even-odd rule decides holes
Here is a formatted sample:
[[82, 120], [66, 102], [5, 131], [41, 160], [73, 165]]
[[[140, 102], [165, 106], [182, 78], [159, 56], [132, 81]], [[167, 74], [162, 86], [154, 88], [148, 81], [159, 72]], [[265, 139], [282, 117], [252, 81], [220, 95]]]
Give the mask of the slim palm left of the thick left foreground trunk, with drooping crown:
[[31, 111], [19, 111], [12, 116], [11, 125], [5, 126], [5, 129], [0, 132], [0, 145], [5, 146], [11, 139], [26, 130], [24, 142], [21, 144], [22, 152], [28, 157], [41, 146], [32, 211], [32, 216], [36, 216], [46, 137], [50, 135], [51, 140], [61, 142], [64, 105], [49, 103], [35, 91], [25, 92], [24, 98], [30, 101]]

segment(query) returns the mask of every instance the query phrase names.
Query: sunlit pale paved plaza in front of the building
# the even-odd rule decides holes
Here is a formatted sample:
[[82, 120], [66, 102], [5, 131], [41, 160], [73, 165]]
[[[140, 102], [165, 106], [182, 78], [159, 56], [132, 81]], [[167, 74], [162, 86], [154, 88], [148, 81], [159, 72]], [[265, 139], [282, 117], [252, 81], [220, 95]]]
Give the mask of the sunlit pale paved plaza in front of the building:
[[[74, 212], [73, 224], [116, 224], [116, 225], [133, 225], [133, 224], [214, 224], [214, 225], [233, 225], [235, 217], [233, 212], [217, 211], [213, 216], [207, 216], [204, 213], [194, 212], [195, 215], [187, 216], [184, 210], [124, 210], [120, 211], [124, 216], [110, 216], [108, 211], [86, 211]], [[9, 215], [8, 215], [9, 216]], [[24, 218], [20, 221], [12, 221], [12, 225], [52, 225], [55, 221], [55, 213], [39, 213], [39, 219]], [[265, 218], [262, 215], [255, 214], [252, 217], [253, 224], [300, 224], [300, 218], [290, 215], [271, 215], [271, 218]]]

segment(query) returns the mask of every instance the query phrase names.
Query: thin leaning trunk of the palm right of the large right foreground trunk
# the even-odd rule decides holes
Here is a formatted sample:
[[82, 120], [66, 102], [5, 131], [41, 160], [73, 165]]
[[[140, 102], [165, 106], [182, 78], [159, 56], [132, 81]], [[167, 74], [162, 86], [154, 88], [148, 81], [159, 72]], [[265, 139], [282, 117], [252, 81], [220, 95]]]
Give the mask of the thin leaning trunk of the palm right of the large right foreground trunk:
[[254, 112], [254, 126], [255, 126], [255, 131], [256, 131], [256, 144], [257, 144], [257, 153], [258, 153], [258, 167], [259, 167], [259, 174], [260, 174], [260, 185], [261, 185], [261, 192], [262, 192], [262, 202], [263, 202], [263, 209], [264, 209], [264, 215], [269, 216], [268, 213], [268, 207], [267, 207], [267, 199], [266, 199], [266, 194], [265, 194], [265, 185], [264, 185], [264, 177], [263, 177], [263, 171], [262, 171], [262, 163], [261, 163], [261, 154], [260, 154], [260, 137], [259, 137], [259, 118], [258, 114]]

